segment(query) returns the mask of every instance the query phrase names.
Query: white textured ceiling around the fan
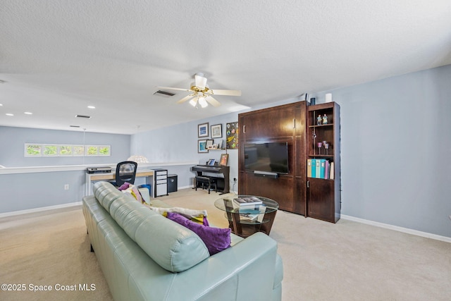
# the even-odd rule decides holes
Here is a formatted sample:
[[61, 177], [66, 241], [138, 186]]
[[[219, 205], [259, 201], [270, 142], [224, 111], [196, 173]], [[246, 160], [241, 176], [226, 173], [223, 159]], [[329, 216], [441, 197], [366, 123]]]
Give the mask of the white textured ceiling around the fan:
[[[450, 0], [1, 0], [0, 125], [137, 133], [444, 66], [450, 49]], [[153, 95], [198, 72], [242, 96]]]

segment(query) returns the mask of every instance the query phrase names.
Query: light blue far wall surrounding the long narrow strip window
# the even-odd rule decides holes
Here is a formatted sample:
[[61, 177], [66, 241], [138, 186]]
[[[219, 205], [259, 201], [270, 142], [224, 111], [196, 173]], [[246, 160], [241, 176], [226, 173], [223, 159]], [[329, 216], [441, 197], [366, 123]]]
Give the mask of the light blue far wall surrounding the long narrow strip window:
[[[130, 135], [0, 126], [0, 165], [6, 167], [110, 164], [130, 156]], [[111, 145], [111, 156], [25, 157], [25, 143]]]

